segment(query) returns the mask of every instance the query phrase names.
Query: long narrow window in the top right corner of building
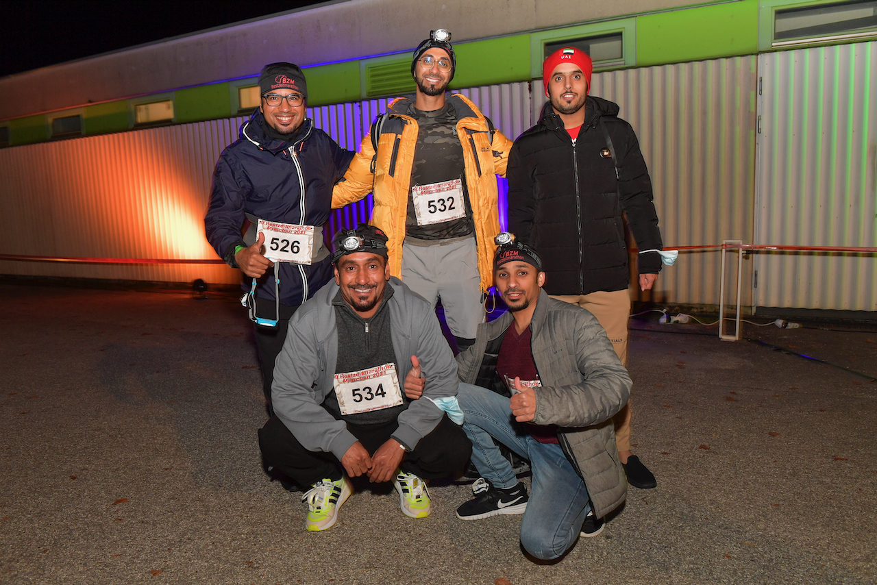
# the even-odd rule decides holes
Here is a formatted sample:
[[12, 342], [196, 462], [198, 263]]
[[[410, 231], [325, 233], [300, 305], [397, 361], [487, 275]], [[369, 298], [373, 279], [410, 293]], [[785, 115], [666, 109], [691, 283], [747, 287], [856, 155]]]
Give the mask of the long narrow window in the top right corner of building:
[[774, 13], [774, 46], [877, 36], [877, 2], [819, 4]]

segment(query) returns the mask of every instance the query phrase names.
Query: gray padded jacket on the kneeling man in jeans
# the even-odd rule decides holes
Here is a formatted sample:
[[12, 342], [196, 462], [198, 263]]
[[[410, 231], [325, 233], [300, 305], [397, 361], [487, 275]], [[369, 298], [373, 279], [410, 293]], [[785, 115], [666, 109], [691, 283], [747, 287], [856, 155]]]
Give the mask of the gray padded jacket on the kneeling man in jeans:
[[[478, 325], [474, 346], [457, 356], [460, 382], [501, 388], [496, 384], [496, 356], [513, 321], [506, 313]], [[588, 310], [541, 290], [530, 327], [533, 361], [542, 382], [533, 423], [561, 427], [560, 446], [588, 487], [596, 516], [603, 517], [627, 496], [611, 417], [631, 396], [631, 376]]]

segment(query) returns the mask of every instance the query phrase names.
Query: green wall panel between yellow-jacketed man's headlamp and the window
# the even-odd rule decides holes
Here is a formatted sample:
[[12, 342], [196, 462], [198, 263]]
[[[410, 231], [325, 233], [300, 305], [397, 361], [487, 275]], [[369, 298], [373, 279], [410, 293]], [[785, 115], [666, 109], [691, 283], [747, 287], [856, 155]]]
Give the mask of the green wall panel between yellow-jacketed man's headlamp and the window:
[[457, 56], [457, 70], [453, 75], [452, 88], [530, 79], [529, 34], [460, 43], [453, 47], [453, 52]]

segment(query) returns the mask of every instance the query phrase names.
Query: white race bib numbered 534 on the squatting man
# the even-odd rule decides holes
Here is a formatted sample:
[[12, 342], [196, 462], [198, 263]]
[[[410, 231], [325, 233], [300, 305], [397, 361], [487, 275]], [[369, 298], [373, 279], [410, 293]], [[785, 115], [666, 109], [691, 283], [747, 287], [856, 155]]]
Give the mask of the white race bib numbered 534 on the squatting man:
[[403, 403], [396, 364], [336, 374], [334, 385], [342, 415], [389, 409]]

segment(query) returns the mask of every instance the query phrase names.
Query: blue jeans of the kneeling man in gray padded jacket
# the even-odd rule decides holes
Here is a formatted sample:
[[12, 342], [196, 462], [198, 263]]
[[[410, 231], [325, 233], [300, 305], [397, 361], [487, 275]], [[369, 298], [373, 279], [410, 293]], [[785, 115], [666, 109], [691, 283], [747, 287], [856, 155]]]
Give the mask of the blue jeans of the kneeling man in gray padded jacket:
[[530, 460], [530, 501], [521, 520], [524, 550], [543, 560], [566, 553], [579, 537], [591, 506], [585, 482], [560, 445], [533, 439], [512, 416], [509, 398], [496, 392], [460, 383], [457, 400], [466, 417], [463, 431], [472, 441], [472, 462], [494, 487], [514, 488], [517, 477], [493, 439]]

